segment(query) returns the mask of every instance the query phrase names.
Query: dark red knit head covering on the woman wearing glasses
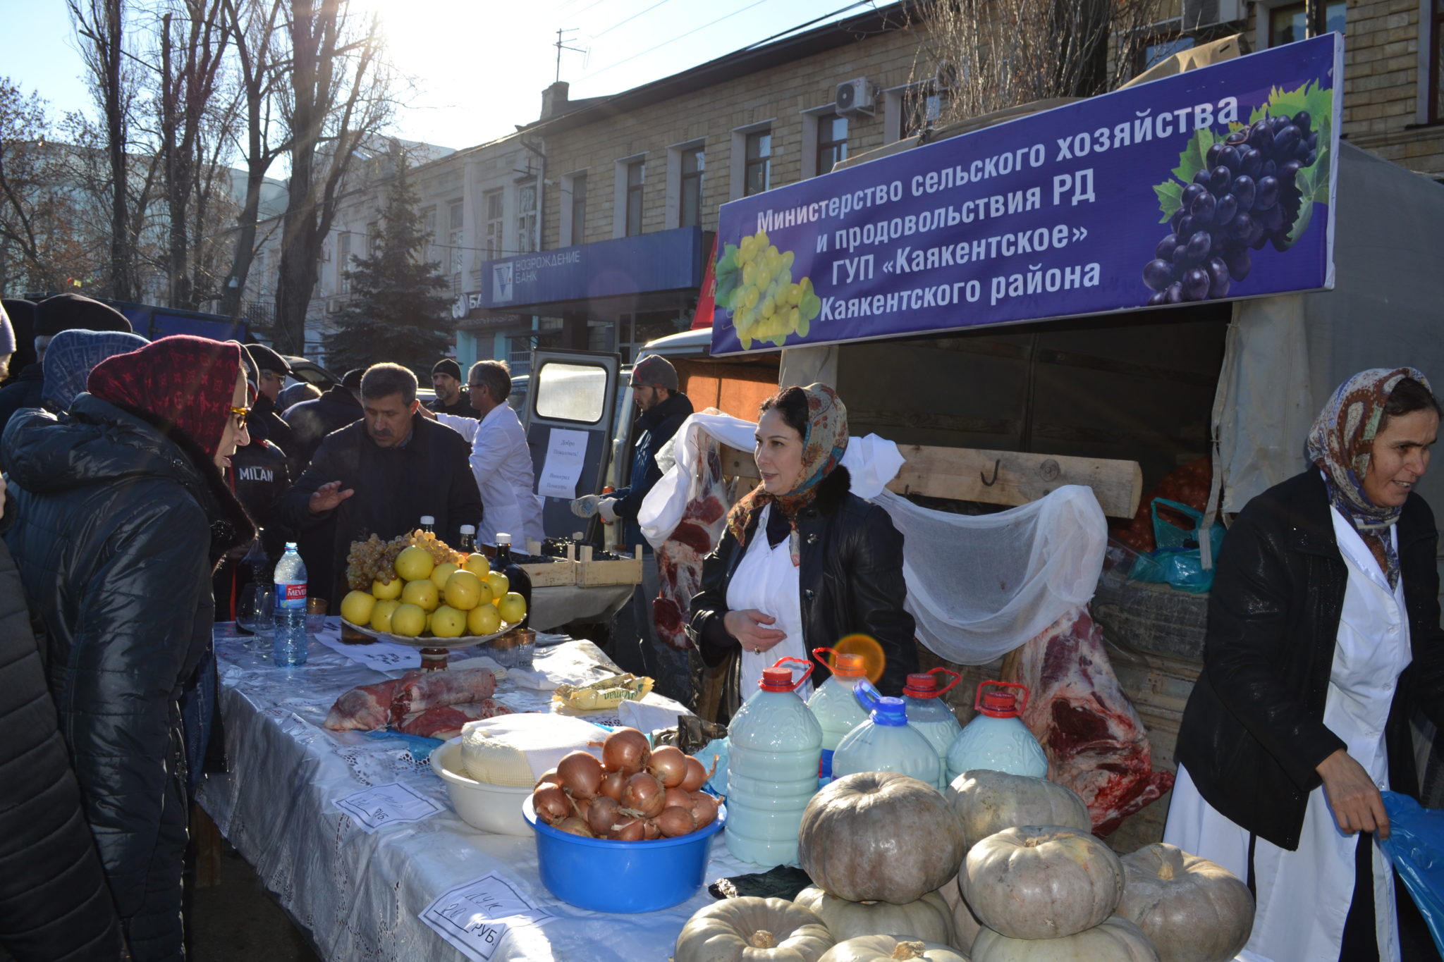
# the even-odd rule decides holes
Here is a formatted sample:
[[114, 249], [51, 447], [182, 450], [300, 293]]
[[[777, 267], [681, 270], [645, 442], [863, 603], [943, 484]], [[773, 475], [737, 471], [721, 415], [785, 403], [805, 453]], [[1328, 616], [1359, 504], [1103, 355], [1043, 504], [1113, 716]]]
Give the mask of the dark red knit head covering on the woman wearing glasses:
[[103, 401], [169, 421], [215, 457], [240, 372], [241, 346], [234, 340], [175, 335], [101, 361], [88, 388]]

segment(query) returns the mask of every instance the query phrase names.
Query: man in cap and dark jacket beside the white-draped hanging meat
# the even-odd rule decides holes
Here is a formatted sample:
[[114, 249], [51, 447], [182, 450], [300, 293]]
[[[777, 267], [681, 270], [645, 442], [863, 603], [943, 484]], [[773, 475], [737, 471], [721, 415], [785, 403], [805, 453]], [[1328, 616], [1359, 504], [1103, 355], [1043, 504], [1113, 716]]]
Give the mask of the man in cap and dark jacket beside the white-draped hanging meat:
[[[693, 697], [687, 652], [657, 637], [651, 601], [657, 597], [661, 580], [657, 575], [657, 557], [651, 552], [651, 544], [641, 537], [641, 528], [637, 525], [637, 512], [641, 511], [647, 492], [661, 480], [657, 451], [692, 414], [692, 401], [677, 388], [677, 369], [660, 355], [647, 355], [632, 365], [631, 389], [632, 401], [641, 414], [632, 424], [632, 464], [627, 476], [630, 483], [612, 495], [578, 498], [572, 502], [572, 513], [579, 518], [599, 513], [608, 524], [621, 522], [622, 544], [628, 550], [641, 545], [643, 581], [632, 594], [631, 625], [627, 623], [625, 613], [619, 613], [612, 659], [624, 671], [651, 675], [658, 694], [690, 705]], [[640, 650], [630, 650], [632, 645]]]

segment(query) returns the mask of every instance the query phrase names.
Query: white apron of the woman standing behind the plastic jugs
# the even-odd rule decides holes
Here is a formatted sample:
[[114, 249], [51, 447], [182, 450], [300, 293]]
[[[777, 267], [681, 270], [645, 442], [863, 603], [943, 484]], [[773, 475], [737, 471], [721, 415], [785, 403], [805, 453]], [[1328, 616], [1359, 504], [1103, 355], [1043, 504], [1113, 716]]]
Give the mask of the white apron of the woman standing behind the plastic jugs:
[[[762, 681], [762, 669], [775, 665], [778, 658], [812, 659], [803, 643], [801, 583], [797, 578], [797, 568], [793, 567], [791, 545], [787, 538], [783, 538], [775, 548], [767, 544], [767, 515], [771, 511], [773, 505], [768, 503], [757, 519], [752, 541], [726, 586], [726, 606], [734, 612], [757, 609], [762, 614], [771, 614], [777, 622], [767, 627], [787, 632], [787, 637], [761, 655], [754, 655], [751, 648], [742, 648], [742, 701], [752, 697], [757, 684]], [[793, 666], [793, 678], [799, 669], [800, 666]], [[797, 694], [807, 701], [807, 695], [812, 694], [810, 678], [797, 688]]]

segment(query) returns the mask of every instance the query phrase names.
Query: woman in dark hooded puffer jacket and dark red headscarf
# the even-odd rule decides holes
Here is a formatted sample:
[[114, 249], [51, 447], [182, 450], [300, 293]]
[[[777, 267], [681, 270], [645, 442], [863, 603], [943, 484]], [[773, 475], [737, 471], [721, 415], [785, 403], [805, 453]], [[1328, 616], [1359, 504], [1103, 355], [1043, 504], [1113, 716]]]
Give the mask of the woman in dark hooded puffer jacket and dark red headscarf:
[[248, 440], [241, 348], [163, 337], [88, 388], [68, 415], [6, 427], [6, 541], [45, 613], [46, 679], [130, 953], [180, 959], [178, 700], [211, 643], [211, 571], [254, 537], [221, 475]]

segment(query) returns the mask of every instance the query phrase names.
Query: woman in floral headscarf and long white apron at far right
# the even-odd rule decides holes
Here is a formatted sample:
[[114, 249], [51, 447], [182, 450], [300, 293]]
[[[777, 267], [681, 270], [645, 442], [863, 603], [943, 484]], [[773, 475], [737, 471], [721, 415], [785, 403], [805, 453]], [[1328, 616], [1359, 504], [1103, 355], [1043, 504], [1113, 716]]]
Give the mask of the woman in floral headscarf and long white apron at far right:
[[1422, 374], [1356, 374], [1313, 466], [1251, 500], [1219, 557], [1164, 839], [1248, 880], [1248, 949], [1275, 962], [1437, 958], [1373, 837], [1380, 789], [1418, 796], [1415, 711], [1444, 730], [1438, 532], [1414, 492], [1438, 430]]

